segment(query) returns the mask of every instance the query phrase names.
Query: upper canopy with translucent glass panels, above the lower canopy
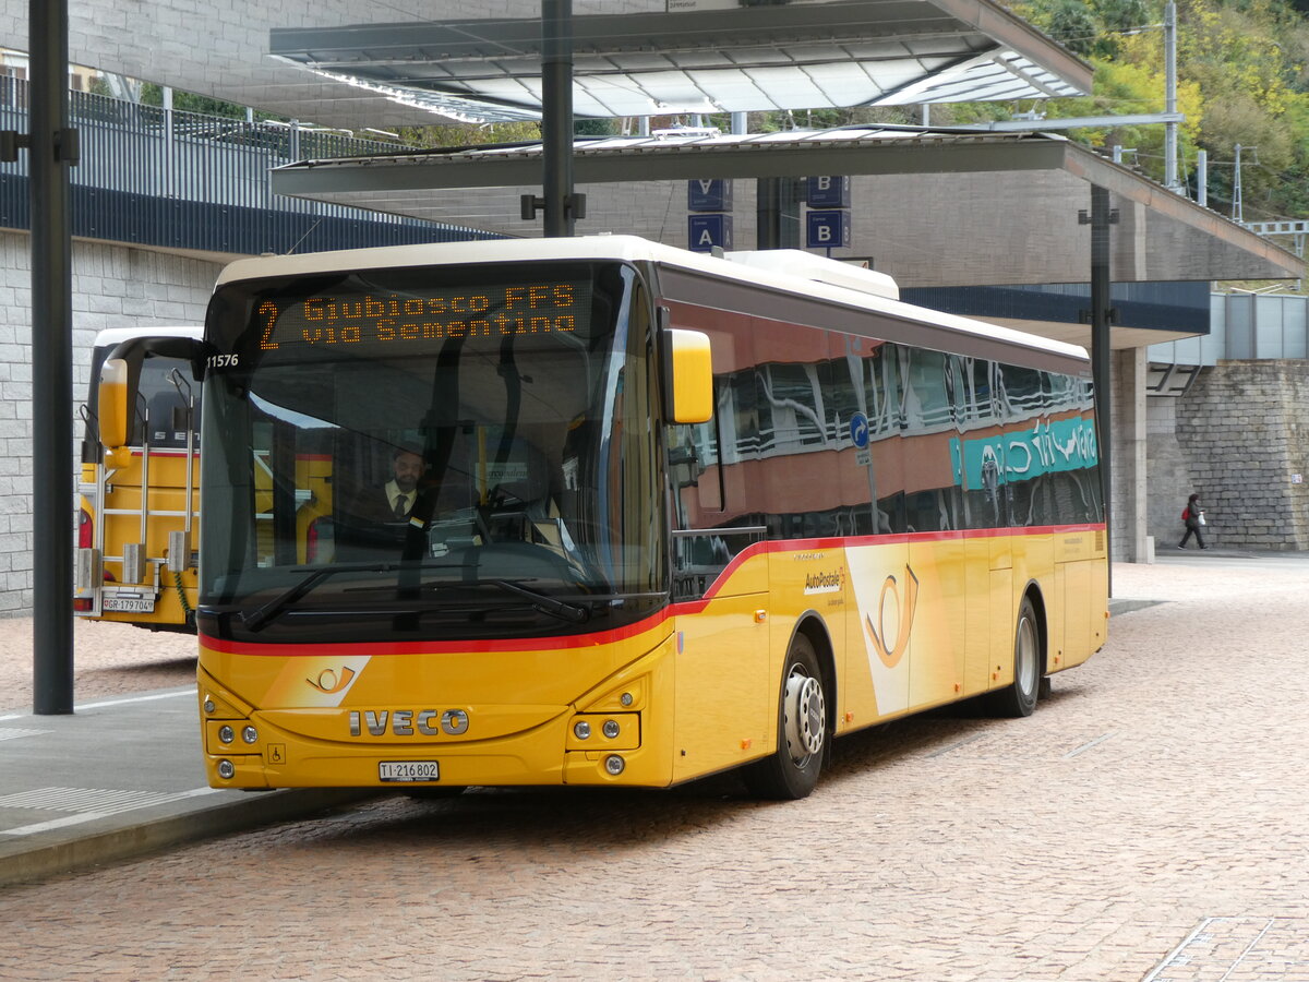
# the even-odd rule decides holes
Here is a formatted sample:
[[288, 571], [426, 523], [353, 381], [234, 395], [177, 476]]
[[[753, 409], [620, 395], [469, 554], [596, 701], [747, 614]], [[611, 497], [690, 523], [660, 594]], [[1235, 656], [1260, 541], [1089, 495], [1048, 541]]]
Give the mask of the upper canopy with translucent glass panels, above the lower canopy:
[[[988, 0], [682, 0], [644, 12], [579, 9], [572, 52], [573, 111], [580, 117], [1030, 100], [1090, 90], [1090, 65]], [[270, 54], [458, 119], [541, 115], [539, 16], [275, 29]]]

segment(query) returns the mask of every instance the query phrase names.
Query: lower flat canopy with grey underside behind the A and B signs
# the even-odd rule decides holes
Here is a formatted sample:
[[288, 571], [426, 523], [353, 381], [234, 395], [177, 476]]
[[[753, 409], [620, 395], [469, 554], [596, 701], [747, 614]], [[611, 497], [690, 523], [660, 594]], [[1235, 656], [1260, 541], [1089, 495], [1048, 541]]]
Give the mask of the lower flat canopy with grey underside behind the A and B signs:
[[[539, 194], [541, 173], [542, 147], [531, 144], [304, 161], [272, 181], [279, 194], [535, 236], [539, 223], [521, 219], [520, 196]], [[675, 244], [689, 181], [838, 174], [853, 182], [855, 254], [872, 254], [902, 287], [1085, 283], [1092, 185], [1118, 212], [1114, 282], [1304, 271], [1293, 253], [1062, 136], [962, 128], [579, 140], [573, 178], [589, 217], [577, 233]], [[737, 186], [736, 247], [754, 245], [754, 209], [742, 200], [753, 187]]]

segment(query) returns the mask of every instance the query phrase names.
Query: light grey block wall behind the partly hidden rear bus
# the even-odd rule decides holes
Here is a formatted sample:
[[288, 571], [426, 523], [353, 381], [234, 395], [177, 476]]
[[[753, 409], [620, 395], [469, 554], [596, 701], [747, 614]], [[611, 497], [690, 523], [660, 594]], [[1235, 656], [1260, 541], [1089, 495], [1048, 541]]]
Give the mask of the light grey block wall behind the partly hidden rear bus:
[[[0, 232], [0, 617], [33, 608], [31, 268], [26, 234]], [[86, 398], [90, 351], [106, 327], [202, 323], [220, 263], [75, 242], [73, 405]], [[68, 467], [77, 465], [68, 448]], [[72, 500], [68, 516], [72, 521]]]

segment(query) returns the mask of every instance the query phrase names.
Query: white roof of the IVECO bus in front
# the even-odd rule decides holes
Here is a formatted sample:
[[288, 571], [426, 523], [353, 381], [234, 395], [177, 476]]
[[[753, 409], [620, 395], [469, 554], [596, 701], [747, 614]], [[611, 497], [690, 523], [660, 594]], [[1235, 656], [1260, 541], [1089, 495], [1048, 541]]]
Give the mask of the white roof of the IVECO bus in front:
[[[784, 251], [788, 255], [796, 255], [796, 250]], [[238, 259], [219, 274], [216, 285], [245, 279], [295, 276], [332, 270], [440, 266], [446, 263], [541, 262], [543, 259], [651, 262], [702, 275], [783, 289], [846, 306], [864, 308], [898, 321], [931, 325], [936, 329], [986, 339], [1001, 346], [1016, 346], [1056, 357], [1089, 363], [1085, 348], [1076, 344], [905, 304], [889, 296], [891, 292], [898, 295], [898, 291], [895, 291], [891, 278], [885, 274], [859, 270], [850, 263], [827, 259], [813, 253], [800, 253], [800, 255], [806, 257], [804, 262], [788, 266], [784, 261], [771, 259], [767, 253], [728, 253], [724, 257], [716, 257], [651, 242], [637, 236], [499, 238]], [[888, 287], [888, 284], [890, 285]]]

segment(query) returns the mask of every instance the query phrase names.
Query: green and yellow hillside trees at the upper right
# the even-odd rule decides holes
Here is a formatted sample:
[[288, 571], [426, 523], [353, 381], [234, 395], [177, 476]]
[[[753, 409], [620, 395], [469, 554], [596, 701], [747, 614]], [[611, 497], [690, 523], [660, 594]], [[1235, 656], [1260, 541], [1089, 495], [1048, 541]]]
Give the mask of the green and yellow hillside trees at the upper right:
[[[1096, 65], [1092, 94], [1052, 100], [1051, 115], [1158, 113], [1164, 107], [1162, 0], [1029, 0], [1016, 12]], [[1299, 217], [1309, 204], [1309, 0], [1179, 0], [1178, 107], [1183, 174], [1210, 155], [1211, 202], [1232, 194], [1233, 147], [1245, 155], [1246, 217]], [[1161, 126], [1083, 130], [1093, 147], [1138, 149], [1162, 177]]]

